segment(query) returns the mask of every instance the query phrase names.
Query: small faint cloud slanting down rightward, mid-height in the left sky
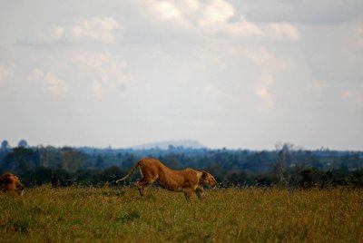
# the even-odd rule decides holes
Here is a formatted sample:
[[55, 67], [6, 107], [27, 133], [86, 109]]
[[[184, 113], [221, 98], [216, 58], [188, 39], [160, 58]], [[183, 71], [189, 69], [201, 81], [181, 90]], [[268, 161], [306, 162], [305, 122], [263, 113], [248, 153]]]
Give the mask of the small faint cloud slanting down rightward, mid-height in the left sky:
[[68, 85], [54, 73], [45, 73], [39, 68], [34, 68], [32, 76], [35, 81], [41, 83], [42, 89], [45, 93], [52, 94], [54, 96], [64, 96], [69, 91]]

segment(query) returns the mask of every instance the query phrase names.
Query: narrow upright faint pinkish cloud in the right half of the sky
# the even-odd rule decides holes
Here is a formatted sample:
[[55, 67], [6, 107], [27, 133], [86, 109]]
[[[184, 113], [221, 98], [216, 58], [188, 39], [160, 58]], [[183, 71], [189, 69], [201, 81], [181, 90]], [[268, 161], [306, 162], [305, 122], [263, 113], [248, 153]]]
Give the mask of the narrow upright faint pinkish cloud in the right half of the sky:
[[261, 115], [269, 115], [274, 105], [270, 94], [270, 86], [273, 84], [273, 76], [265, 73], [260, 76], [255, 88], [255, 94], [259, 99], [259, 112]]

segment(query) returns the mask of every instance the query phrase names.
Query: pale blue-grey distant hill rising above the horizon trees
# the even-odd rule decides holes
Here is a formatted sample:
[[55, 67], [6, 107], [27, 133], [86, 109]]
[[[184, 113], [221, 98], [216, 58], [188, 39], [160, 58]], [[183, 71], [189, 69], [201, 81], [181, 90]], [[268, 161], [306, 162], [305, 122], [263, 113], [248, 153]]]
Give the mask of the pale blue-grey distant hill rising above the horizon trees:
[[205, 148], [199, 141], [194, 140], [181, 140], [181, 141], [157, 141], [145, 143], [142, 145], [133, 146], [133, 150], [150, 150], [159, 148], [161, 150], [168, 150], [169, 146], [173, 147], [183, 147], [183, 148], [191, 148], [191, 149], [202, 149]]

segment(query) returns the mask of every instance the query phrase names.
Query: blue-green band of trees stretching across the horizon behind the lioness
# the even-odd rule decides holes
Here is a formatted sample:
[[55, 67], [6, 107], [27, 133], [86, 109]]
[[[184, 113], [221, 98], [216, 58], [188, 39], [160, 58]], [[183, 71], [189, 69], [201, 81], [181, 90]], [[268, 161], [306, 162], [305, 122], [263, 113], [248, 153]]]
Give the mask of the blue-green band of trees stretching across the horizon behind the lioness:
[[[27, 186], [113, 185], [144, 157], [161, 160], [174, 170], [208, 170], [222, 187], [363, 187], [363, 151], [308, 151], [289, 143], [277, 144], [273, 151], [249, 151], [30, 147], [26, 141], [11, 148], [3, 141], [0, 172], [16, 173]], [[134, 173], [131, 181], [138, 177]]]

